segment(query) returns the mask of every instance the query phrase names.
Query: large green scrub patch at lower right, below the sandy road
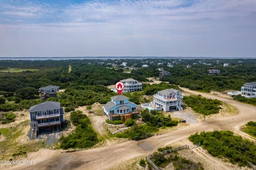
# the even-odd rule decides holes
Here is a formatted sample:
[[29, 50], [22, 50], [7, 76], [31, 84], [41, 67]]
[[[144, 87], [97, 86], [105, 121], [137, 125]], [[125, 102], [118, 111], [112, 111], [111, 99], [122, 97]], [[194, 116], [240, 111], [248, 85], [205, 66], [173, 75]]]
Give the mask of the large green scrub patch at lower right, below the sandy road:
[[201, 132], [189, 136], [194, 144], [201, 144], [212, 156], [226, 158], [230, 163], [245, 166], [247, 161], [256, 164], [255, 143], [234, 135], [230, 131]]

